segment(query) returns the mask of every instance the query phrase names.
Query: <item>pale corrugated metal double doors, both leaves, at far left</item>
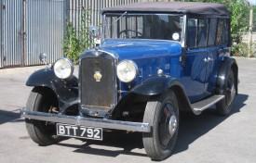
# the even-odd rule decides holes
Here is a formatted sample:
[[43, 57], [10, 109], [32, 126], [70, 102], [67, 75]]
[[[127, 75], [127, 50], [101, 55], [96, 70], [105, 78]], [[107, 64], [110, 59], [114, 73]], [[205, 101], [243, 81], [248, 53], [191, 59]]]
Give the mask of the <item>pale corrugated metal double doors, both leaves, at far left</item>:
[[63, 56], [65, 0], [0, 0], [0, 68], [49, 63]]

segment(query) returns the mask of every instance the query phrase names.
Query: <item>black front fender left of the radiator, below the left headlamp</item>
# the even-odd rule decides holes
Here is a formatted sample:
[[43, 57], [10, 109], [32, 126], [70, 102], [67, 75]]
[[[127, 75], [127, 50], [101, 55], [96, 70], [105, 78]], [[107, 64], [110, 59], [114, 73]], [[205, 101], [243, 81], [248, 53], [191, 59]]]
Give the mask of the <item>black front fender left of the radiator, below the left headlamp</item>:
[[59, 100], [61, 112], [78, 104], [78, 79], [74, 75], [61, 80], [53, 69], [40, 69], [31, 74], [26, 85], [51, 89]]

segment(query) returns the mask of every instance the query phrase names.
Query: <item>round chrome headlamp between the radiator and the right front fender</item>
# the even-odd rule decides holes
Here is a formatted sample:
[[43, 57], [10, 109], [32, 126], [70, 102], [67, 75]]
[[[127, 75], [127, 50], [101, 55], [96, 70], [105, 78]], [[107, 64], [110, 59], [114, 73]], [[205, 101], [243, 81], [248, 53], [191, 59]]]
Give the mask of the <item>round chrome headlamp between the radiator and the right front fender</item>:
[[138, 73], [137, 65], [131, 60], [123, 60], [117, 65], [117, 77], [120, 81], [133, 81]]

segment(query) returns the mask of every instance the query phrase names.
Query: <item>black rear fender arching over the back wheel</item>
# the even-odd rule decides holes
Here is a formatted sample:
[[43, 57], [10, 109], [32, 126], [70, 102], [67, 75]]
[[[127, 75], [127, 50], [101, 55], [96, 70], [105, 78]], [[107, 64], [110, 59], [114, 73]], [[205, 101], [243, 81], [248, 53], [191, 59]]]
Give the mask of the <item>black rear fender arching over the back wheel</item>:
[[222, 93], [223, 89], [225, 88], [227, 74], [229, 69], [232, 69], [235, 76], [235, 86], [236, 86], [236, 94], [238, 94], [238, 66], [236, 63], [236, 59], [234, 57], [223, 56], [222, 57], [222, 65], [221, 69], [218, 74], [218, 81], [217, 81], [217, 90], [216, 94]]

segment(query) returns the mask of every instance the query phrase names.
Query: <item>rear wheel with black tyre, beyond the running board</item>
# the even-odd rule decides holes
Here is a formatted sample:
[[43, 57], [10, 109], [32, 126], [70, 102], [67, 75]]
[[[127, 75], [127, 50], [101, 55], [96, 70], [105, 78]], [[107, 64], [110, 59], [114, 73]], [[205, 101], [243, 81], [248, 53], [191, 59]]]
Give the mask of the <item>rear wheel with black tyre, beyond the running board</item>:
[[236, 96], [235, 76], [232, 69], [229, 69], [225, 86], [219, 92], [219, 94], [223, 94], [225, 97], [216, 104], [217, 113], [226, 116], [230, 113]]

